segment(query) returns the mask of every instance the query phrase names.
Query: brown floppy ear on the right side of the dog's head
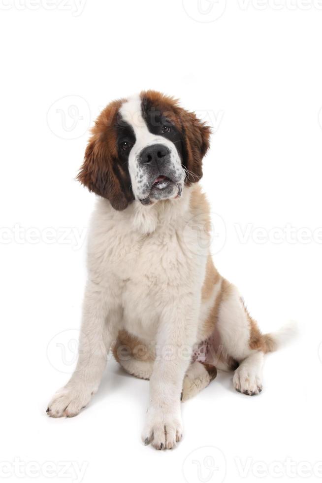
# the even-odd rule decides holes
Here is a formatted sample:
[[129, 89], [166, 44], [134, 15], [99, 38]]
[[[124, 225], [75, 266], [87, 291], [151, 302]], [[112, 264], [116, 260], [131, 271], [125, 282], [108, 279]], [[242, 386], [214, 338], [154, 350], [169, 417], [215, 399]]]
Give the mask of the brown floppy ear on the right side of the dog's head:
[[186, 184], [189, 185], [202, 177], [202, 159], [209, 149], [211, 128], [201, 122], [194, 112], [183, 109], [181, 117], [185, 139], [184, 163], [188, 170]]

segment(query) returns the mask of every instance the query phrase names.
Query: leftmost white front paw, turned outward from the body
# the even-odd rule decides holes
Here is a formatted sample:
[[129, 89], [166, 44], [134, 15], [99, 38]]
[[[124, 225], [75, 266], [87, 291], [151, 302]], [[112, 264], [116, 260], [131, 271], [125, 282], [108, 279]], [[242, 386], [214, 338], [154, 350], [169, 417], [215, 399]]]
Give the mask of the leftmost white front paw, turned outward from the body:
[[65, 386], [54, 394], [46, 413], [52, 417], [73, 417], [91, 400], [91, 391], [82, 386]]

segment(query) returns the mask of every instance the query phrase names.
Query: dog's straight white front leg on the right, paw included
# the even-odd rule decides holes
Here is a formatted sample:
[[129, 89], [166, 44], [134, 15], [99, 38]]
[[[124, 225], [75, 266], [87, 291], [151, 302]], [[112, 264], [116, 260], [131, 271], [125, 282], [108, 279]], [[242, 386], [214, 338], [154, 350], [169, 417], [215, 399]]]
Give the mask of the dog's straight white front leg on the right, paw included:
[[181, 391], [197, 328], [198, 301], [190, 296], [168, 301], [160, 321], [150, 401], [142, 440], [172, 449], [182, 437]]

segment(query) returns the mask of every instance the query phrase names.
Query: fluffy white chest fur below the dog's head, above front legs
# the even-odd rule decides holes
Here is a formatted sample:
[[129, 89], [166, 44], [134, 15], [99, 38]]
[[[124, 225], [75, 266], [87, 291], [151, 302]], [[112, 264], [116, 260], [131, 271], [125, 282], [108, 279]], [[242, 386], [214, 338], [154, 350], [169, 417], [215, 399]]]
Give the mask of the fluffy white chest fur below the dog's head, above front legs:
[[191, 189], [181, 200], [152, 207], [134, 202], [116, 211], [99, 200], [89, 240], [89, 277], [119, 306], [121, 326], [152, 340], [168, 301], [201, 290], [206, 256], [190, 209]]

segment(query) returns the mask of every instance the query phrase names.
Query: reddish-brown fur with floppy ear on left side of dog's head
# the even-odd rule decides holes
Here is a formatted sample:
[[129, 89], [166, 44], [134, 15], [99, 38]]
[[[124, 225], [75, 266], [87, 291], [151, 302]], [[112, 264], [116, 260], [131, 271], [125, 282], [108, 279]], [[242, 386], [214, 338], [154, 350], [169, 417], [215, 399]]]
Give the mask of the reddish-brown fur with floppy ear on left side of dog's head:
[[114, 101], [99, 114], [77, 179], [112, 207], [125, 209], [134, 200], [128, 166], [118, 159], [117, 115], [125, 100]]

